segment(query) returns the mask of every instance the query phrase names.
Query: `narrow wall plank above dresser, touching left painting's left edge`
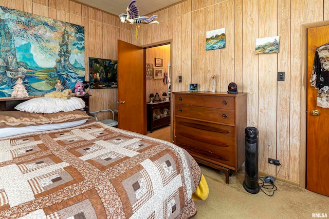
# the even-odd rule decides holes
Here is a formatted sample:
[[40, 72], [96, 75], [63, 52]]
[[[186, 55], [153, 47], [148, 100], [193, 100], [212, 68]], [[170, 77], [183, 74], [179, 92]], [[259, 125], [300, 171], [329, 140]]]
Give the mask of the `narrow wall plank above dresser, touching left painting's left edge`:
[[[200, 4], [200, 2], [199, 2]], [[200, 90], [209, 90], [209, 81], [205, 72], [206, 65], [206, 19], [207, 16], [205, 9], [198, 10], [198, 84]]]

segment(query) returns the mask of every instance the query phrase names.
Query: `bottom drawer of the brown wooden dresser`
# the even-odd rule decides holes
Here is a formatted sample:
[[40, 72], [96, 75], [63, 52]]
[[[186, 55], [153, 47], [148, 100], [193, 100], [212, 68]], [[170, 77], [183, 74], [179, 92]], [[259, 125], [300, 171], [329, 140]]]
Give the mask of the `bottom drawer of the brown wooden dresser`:
[[179, 137], [175, 138], [174, 143], [187, 150], [192, 156], [213, 161], [217, 165], [225, 164], [230, 166], [230, 169], [235, 170], [235, 153], [218, 149], [219, 147], [216, 145], [208, 147], [207, 144], [202, 142], [185, 140]]

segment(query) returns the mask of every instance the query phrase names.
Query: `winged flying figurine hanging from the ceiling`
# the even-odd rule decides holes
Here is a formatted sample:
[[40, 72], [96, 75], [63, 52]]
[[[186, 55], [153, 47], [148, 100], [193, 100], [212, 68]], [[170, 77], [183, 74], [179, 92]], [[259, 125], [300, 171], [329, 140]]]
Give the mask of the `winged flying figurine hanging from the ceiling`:
[[120, 14], [119, 17], [122, 23], [159, 24], [158, 21], [154, 20], [158, 17], [158, 15], [152, 15], [150, 18], [147, 16], [139, 16], [139, 9], [135, 0], [129, 3], [127, 7], [127, 13]]

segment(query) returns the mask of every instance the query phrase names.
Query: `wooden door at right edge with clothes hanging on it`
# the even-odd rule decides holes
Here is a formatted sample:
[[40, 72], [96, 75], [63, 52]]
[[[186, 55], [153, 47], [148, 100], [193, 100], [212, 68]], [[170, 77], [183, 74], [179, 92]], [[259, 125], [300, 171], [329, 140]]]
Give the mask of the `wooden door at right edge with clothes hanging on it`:
[[[309, 80], [315, 51], [317, 47], [328, 42], [329, 26], [307, 29], [306, 188], [327, 196], [329, 196], [329, 108], [317, 106], [318, 90], [310, 86]], [[319, 114], [313, 115], [312, 110], [318, 110]]]

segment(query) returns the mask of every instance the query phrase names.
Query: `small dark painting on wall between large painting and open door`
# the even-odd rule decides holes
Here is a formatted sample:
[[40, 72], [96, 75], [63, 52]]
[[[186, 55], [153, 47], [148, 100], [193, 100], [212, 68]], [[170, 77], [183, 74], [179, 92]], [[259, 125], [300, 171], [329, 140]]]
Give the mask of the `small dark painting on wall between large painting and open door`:
[[118, 88], [118, 61], [89, 57], [90, 89]]

